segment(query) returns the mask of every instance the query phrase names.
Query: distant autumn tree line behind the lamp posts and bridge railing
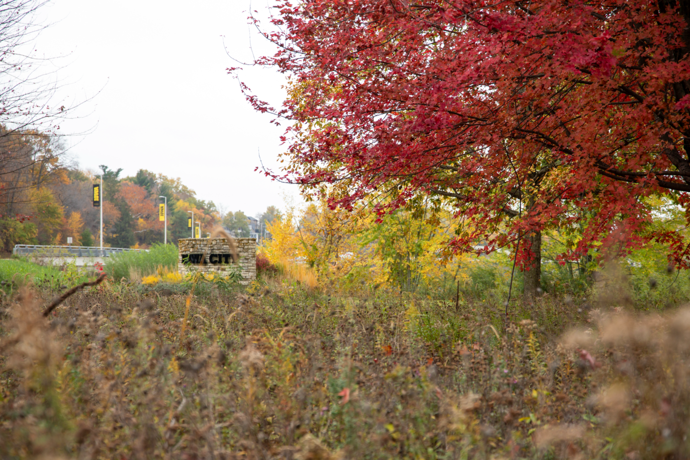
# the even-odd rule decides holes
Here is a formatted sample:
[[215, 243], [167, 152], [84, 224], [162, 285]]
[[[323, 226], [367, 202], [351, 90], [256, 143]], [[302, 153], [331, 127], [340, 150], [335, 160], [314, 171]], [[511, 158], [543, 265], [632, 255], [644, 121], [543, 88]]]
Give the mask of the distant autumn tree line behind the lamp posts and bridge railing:
[[[98, 246], [100, 210], [92, 203], [92, 185], [103, 175], [103, 243], [116, 248], [148, 248], [164, 240], [158, 205], [168, 199], [168, 241], [192, 236], [188, 218], [201, 222], [204, 235], [222, 224], [237, 237], [249, 236], [242, 212], [219, 212], [213, 201], [197, 198], [179, 178], [139, 170], [121, 177], [122, 168], [101, 165], [89, 172], [63, 161], [63, 148], [54, 137], [28, 132], [0, 137], [0, 149], [21, 150], [21, 158], [0, 168], [0, 245], [10, 252], [15, 244]], [[8, 146], [10, 141], [16, 145]], [[1, 150], [0, 150], [1, 151]], [[275, 206], [257, 215], [272, 222]], [[204, 236], [202, 235], [202, 236]]]

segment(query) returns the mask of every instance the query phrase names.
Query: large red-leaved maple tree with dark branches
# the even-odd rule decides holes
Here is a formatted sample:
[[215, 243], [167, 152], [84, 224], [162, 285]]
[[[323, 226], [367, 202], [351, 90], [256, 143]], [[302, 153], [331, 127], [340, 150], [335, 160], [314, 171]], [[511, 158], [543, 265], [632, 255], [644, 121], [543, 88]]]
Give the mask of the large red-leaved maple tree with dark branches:
[[649, 230], [646, 199], [690, 210], [687, 0], [310, 0], [277, 11], [266, 37], [278, 51], [255, 64], [286, 72], [290, 93], [275, 110], [242, 88], [257, 110], [291, 120], [280, 178], [328, 190], [333, 206], [377, 197], [377, 212], [450, 197], [472, 223], [451, 247], [512, 245], [528, 295], [545, 228], [584, 226], [564, 257], [655, 239], [689, 265], [680, 232]]

